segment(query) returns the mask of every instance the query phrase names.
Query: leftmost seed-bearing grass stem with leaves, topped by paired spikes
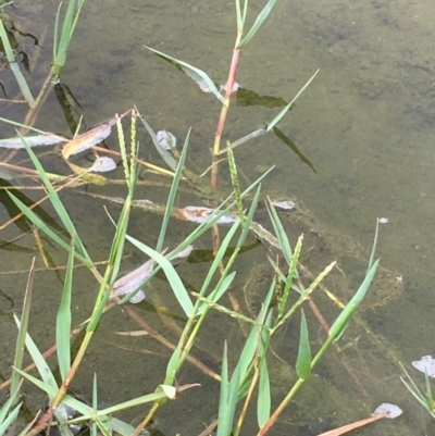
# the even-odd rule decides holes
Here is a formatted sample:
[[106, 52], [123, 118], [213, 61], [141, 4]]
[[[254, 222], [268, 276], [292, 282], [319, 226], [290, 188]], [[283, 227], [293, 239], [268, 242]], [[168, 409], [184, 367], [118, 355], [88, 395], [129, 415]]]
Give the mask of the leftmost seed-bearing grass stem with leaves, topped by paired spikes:
[[[120, 120], [117, 120], [117, 127], [119, 127], [119, 141], [120, 141], [120, 147], [121, 148], [126, 148], [126, 145], [124, 142], [124, 136], [121, 134], [122, 127]], [[135, 142], [135, 134], [134, 132], [132, 133], [132, 138], [134, 139]], [[34, 361], [39, 366], [39, 372], [45, 379], [45, 383], [53, 388], [59, 389], [53, 398], [50, 400], [50, 408], [44, 413], [42, 418], [39, 420], [38, 424], [36, 427], [32, 431], [32, 434], [37, 434], [39, 431], [41, 431], [45, 425], [48, 423], [50, 416], [52, 413], [55, 413], [57, 416], [60, 414], [61, 419], [65, 420], [65, 413], [62, 411], [62, 408], [60, 407], [64, 396], [66, 395], [69, 390], [69, 386], [71, 382], [73, 381], [80, 363], [82, 360], [87, 351], [87, 348], [91, 341], [92, 335], [97, 328], [97, 325], [100, 321], [100, 317], [102, 315], [103, 309], [109, 301], [109, 296], [110, 296], [110, 290], [111, 286], [113, 286], [113, 283], [117, 276], [121, 260], [122, 260], [122, 253], [123, 253], [123, 246], [125, 241], [125, 235], [126, 235], [126, 228], [128, 224], [128, 215], [129, 215], [129, 200], [132, 199], [134, 195], [134, 189], [135, 189], [135, 182], [136, 182], [136, 144], [130, 145], [130, 150], [133, 152], [132, 155], [129, 155], [129, 160], [126, 160], [124, 162], [124, 165], [126, 166], [125, 169], [125, 174], [129, 176], [129, 178], [126, 180], [127, 188], [128, 188], [128, 194], [127, 194], [127, 201], [124, 204], [123, 211], [121, 213], [121, 217], [119, 221], [119, 225], [116, 226], [115, 231], [115, 236], [113, 238], [113, 244], [109, 257], [109, 262], [108, 266], [105, 269], [105, 273], [103, 277], [101, 278], [100, 274], [98, 273], [98, 270], [94, 262], [91, 261], [90, 257], [88, 256], [83, 242], [80, 241], [74, 224], [72, 223], [63, 203], [61, 202], [55, 189], [51, 185], [49, 178], [45, 175], [44, 167], [39, 163], [37, 157], [34, 154], [30, 148], [27, 147], [27, 152], [29, 153], [35, 166], [37, 167], [38, 172], [40, 173], [40, 177], [42, 183], [46, 186], [46, 189], [50, 194], [50, 201], [57, 211], [59, 217], [61, 219], [62, 223], [66, 227], [66, 229], [70, 233], [71, 239], [74, 241], [72, 242], [72, 246], [69, 247], [70, 251], [70, 261], [69, 261], [69, 269], [66, 271], [66, 279], [65, 279], [65, 287], [64, 287], [64, 292], [62, 296], [62, 302], [61, 302], [61, 308], [58, 313], [58, 323], [57, 323], [57, 341], [58, 341], [58, 359], [59, 359], [59, 364], [61, 369], [61, 375], [62, 375], [62, 385], [58, 388], [55, 385], [54, 379], [49, 377], [50, 371], [47, 365], [45, 365], [45, 360], [41, 357], [40, 353], [37, 352], [37, 348], [32, 347], [32, 342], [27, 344], [27, 348], [32, 347], [34, 349], [33, 357]], [[126, 152], [125, 152], [126, 155]], [[133, 164], [132, 164], [133, 162]], [[45, 227], [45, 224], [40, 222], [40, 220], [35, 220], [35, 214], [23, 203], [21, 203], [13, 195], [11, 195], [12, 200], [15, 202], [15, 204], [22, 210], [22, 212], [27, 216], [28, 220], [33, 221], [35, 225], [41, 225], [41, 228], [47, 231]], [[49, 236], [50, 233], [46, 232]], [[57, 235], [55, 235], [57, 236]], [[65, 246], [65, 244], [60, 240], [59, 237], [53, 238], [54, 241], [61, 241], [61, 246]], [[72, 270], [73, 270], [73, 260], [74, 257], [76, 257], [77, 251], [80, 254], [80, 259], [83, 259], [86, 262], [86, 265], [94, 272], [95, 276], [101, 282], [100, 284], [100, 289], [98, 291], [95, 307], [92, 309], [92, 314], [90, 316], [90, 320], [86, 326], [86, 334], [85, 337], [80, 344], [80, 347], [77, 351], [77, 354], [75, 357], [74, 362], [70, 362], [70, 347], [67, 347], [67, 344], [70, 344], [69, 336], [70, 336], [70, 331], [71, 331], [71, 291], [72, 291]], [[67, 340], [66, 344], [62, 344], [63, 340]], [[41, 366], [44, 365], [44, 366]], [[46, 378], [45, 378], [46, 377]], [[49, 377], [49, 378], [47, 378]], [[58, 416], [59, 418], [59, 416]], [[62, 422], [61, 422], [62, 423]]]

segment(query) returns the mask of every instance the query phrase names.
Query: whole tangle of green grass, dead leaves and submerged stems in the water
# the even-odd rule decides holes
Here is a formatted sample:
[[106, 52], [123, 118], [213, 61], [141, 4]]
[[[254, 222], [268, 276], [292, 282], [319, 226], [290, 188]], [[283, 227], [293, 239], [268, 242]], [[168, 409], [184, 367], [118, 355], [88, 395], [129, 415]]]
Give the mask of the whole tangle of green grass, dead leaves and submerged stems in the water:
[[[10, 32], [8, 22], [3, 21], [1, 24], [0, 38], [4, 53], [16, 77], [22, 96], [29, 108], [27, 116], [22, 123], [2, 119], [3, 122], [12, 124], [18, 129], [16, 137], [0, 140], [0, 147], [12, 149], [7, 152], [5, 159], [1, 162], [1, 176], [9, 180], [20, 177], [26, 183], [26, 185], [12, 185], [13, 182], [11, 182], [11, 185], [8, 184], [4, 188], [16, 213], [2, 228], [18, 222], [24, 216], [35, 235], [38, 257], [46, 262], [47, 267], [52, 265], [52, 261], [49, 259], [46, 245], [54, 244], [62, 248], [67, 253], [67, 261], [62, 278], [61, 302], [57, 310], [55, 333], [53, 333], [55, 344], [46, 352], [41, 351], [33, 337], [32, 328], [29, 328], [32, 299], [36, 291], [35, 275], [37, 274], [35, 259], [32, 261], [27, 286], [26, 289], [23, 289], [25, 292], [23, 308], [20, 315], [13, 314], [17, 326], [13, 365], [12, 369], [1, 369], [3, 372], [10, 370], [10, 377], [8, 376], [8, 379], [1, 385], [2, 389], [9, 389], [9, 398], [1, 404], [0, 435], [36, 435], [50, 427], [58, 427], [63, 436], [77, 432], [90, 432], [92, 435], [97, 435], [99, 432], [104, 435], [117, 433], [123, 436], [144, 434], [144, 431], [152, 429], [156, 418], [170, 400], [175, 402], [176, 410], [176, 403], [183, 401], [183, 397], [187, 395], [186, 390], [201, 389], [195, 377], [188, 383], [178, 383], [182, 377], [185, 377], [184, 371], [188, 365], [194, 365], [198, 370], [196, 374], [200, 374], [201, 378], [204, 376], [216, 381], [220, 385], [219, 398], [216, 395], [214, 401], [211, 401], [216, 404], [213, 413], [215, 419], [210, 420], [210, 416], [200, 414], [195, 416], [195, 420], [208, 421], [203, 435], [215, 432], [217, 436], [232, 434], [237, 436], [246, 427], [252, 432], [252, 413], [257, 418], [254, 425], [257, 434], [265, 435], [277, 425], [278, 419], [282, 419], [284, 411], [288, 409], [289, 404], [293, 404], [297, 394], [301, 395], [303, 389], [310, 393], [310, 383], [312, 383], [311, 389], [314, 391], [318, 389], [315, 395], [322, 396], [324, 402], [331, 401], [331, 407], [335, 408], [337, 404], [341, 404], [346, 411], [348, 407], [353, 410], [358, 408], [357, 410], [363, 410], [363, 415], [376, 409], [377, 404], [368, 404], [365, 401], [370, 396], [366, 395], [363, 384], [345, 357], [341, 358], [341, 371], [355, 382], [363, 400], [350, 397], [340, 393], [339, 389], [313, 379], [312, 371], [325, 359], [326, 351], [341, 353], [347, 348], [347, 346], [340, 347], [338, 344], [343, 335], [352, 328], [352, 322], [369, 338], [372, 347], [376, 347], [377, 351], [388, 356], [389, 361], [398, 364], [396, 357], [380, 339], [380, 336], [371, 332], [362, 317], [356, 315], [361, 304], [370, 301], [370, 297], [368, 296], [365, 299], [365, 296], [368, 292], [370, 294], [371, 286], [376, 289], [387, 289], [383, 297], [385, 300], [390, 298], [395, 289], [400, 286], [400, 278], [394, 277], [391, 272], [381, 269], [378, 260], [375, 259], [377, 224], [371, 256], [366, 261], [368, 266], [366, 263], [362, 266], [363, 254], [356, 254], [356, 245], [352, 246], [349, 240], [340, 241], [336, 236], [319, 237], [320, 227], [312, 225], [313, 217], [304, 210], [302, 203], [295, 205], [289, 199], [274, 198], [272, 192], [263, 195], [261, 182], [272, 169], [265, 171], [247, 187], [243, 187], [237, 159], [233, 151], [248, 140], [272, 132], [287, 144], [299, 159], [314, 170], [311, 162], [278, 130], [277, 124], [294, 107], [295, 101], [307, 89], [318, 72], [311, 76], [291, 101], [281, 104], [284, 108], [276, 113], [273, 120], [268, 121], [263, 128], [253, 130], [239, 140], [223, 144], [232, 95], [238, 87], [236, 75], [243, 49], [261, 30], [261, 26], [268, 20], [275, 2], [276, 0], [268, 1], [252, 26], [249, 27], [247, 25], [249, 2], [236, 1], [237, 35], [228, 77], [226, 84], [222, 86], [224, 95], [206, 72], [169, 54], [150, 49], [160, 58], [181, 68], [202, 90], [212, 92], [221, 102], [221, 113], [216, 123], [210, 162], [210, 182], [206, 182], [203, 175], [192, 172], [186, 164], [190, 130], [186, 133], [183, 147], [177, 147], [176, 139], [171, 133], [153, 130], [149, 121], [140, 113], [140, 108], [135, 107], [122, 114], [115, 114], [86, 132], [82, 132], [79, 121], [75, 125], [72, 138], [35, 128], [40, 108], [51, 92], [57, 92], [58, 97], [63, 95], [65, 99], [72, 99], [69, 88], [62, 84], [62, 70], [80, 12], [86, 7], [84, 0], [70, 0], [66, 8], [59, 8], [54, 25], [52, 66], [36, 98], [32, 96], [25, 76], [16, 63], [16, 53], [11, 47], [11, 38], [8, 35]], [[61, 18], [62, 16], [63, 18]], [[141, 127], [145, 127], [152, 139], [165, 163], [164, 167], [141, 158], [138, 141], [138, 132]], [[117, 150], [99, 146], [112, 130], [115, 130], [117, 136]], [[38, 146], [60, 147], [60, 144], [62, 144], [60, 152], [63, 165], [69, 171], [65, 175], [51, 173], [45, 169], [41, 155], [35, 152], [35, 148]], [[10, 163], [20, 149], [25, 149], [28, 153], [33, 167]], [[88, 153], [88, 160], [91, 161], [86, 167], [74, 163], [75, 155], [84, 152]], [[231, 184], [222, 183], [220, 179], [219, 170], [224, 164], [228, 165]], [[122, 170], [123, 175], [119, 179], [111, 178], [105, 174], [111, 171], [117, 171], [115, 174], [120, 174], [119, 170]], [[152, 177], [149, 179], [142, 177], [144, 171], [147, 176], [152, 175]], [[167, 180], [171, 182], [167, 184], [165, 183]], [[83, 186], [103, 187], [112, 184], [122, 186], [125, 196], [114, 197], [107, 192], [98, 194], [78, 189]], [[137, 199], [135, 194], [137, 188], [142, 185], [169, 187], [167, 198], [160, 202]], [[224, 188], [226, 185], [229, 189]], [[28, 201], [28, 198], [22, 195], [22, 191], [26, 189], [36, 188], [45, 192], [45, 196], [35, 202]], [[62, 194], [66, 190], [76, 190], [77, 201], [87, 196], [96, 201], [103, 200], [105, 204], [114, 203], [122, 207], [117, 217], [114, 217], [111, 211], [105, 211], [107, 219], [112, 225], [113, 238], [110, 251], [103, 262], [94, 259], [91, 250], [88, 248], [88, 241], [80, 236], [78, 226], [69, 214], [62, 199]], [[198, 204], [179, 205], [178, 197], [185, 191], [190, 195], [190, 198], [195, 196]], [[51, 204], [55, 220], [47, 219], [42, 213], [40, 205], [44, 202]], [[262, 203], [265, 204], [263, 211], [261, 211]], [[153, 247], [129, 233], [130, 217], [136, 209], [161, 219], [160, 232]], [[278, 209], [284, 209], [284, 211], [281, 212]], [[263, 216], [259, 220], [258, 215], [261, 212], [263, 212]], [[263, 225], [264, 221], [268, 224]], [[186, 229], [186, 235], [181, 240], [174, 241], [169, 237], [169, 233], [171, 226], [177, 226], [179, 222], [195, 223], [196, 226], [186, 225], [186, 228], [192, 228], [191, 232], [188, 233]], [[268, 225], [270, 229], [266, 228]], [[294, 234], [299, 232], [300, 235], [290, 237], [290, 232]], [[212, 250], [207, 254], [198, 253], [201, 250], [197, 249], [197, 245], [200, 245], [200, 241], [209, 235], [211, 235]], [[313, 238], [314, 244], [310, 237]], [[294, 238], [294, 244], [291, 244], [291, 238]], [[337, 259], [332, 258], [327, 265], [319, 266], [320, 262], [324, 262], [324, 256], [319, 257], [313, 248], [318, 244], [318, 239], [321, 239], [321, 244], [323, 244], [322, 249], [319, 250], [323, 253], [339, 256], [339, 250], [334, 249], [334, 244], [347, 245], [347, 249], [352, 251], [349, 264], [355, 265], [356, 262], [359, 262], [358, 267], [361, 270], [358, 272], [358, 285], [355, 277], [350, 281], [353, 288], [351, 295], [331, 290], [332, 282], [327, 281], [332, 276], [336, 281], [335, 283], [344, 283], [340, 282], [344, 281], [341, 276], [345, 275], [341, 272], [343, 265], [338, 269]], [[124, 261], [128, 254], [127, 245], [135, 247], [147, 258], [147, 261], [123, 275]], [[250, 264], [247, 267], [243, 264], [243, 254], [258, 246], [263, 248], [268, 262], [265, 265], [261, 265], [259, 272], [256, 267], [258, 265]], [[198, 286], [188, 284], [176, 267], [178, 263], [190, 260], [191, 263], [208, 265], [207, 270], [202, 270], [201, 275], [197, 277]], [[239, 287], [239, 276], [245, 273], [243, 266], [245, 271], [248, 270], [248, 277], [244, 281], [243, 292], [234, 292], [233, 290]], [[80, 312], [83, 314], [80, 323], [74, 327], [73, 307], [78, 267], [86, 267], [90, 272], [89, 279], [92, 277], [94, 282], [87, 286], [90, 288], [97, 284], [98, 291], [95, 294], [91, 310], [86, 313]], [[320, 271], [320, 273], [314, 273], [314, 271]], [[363, 274], [360, 274], [361, 271]], [[336, 275], [334, 276], [334, 274]], [[374, 278], [375, 274], [377, 274], [376, 279]], [[176, 340], [160, 333], [159, 328], [152, 325], [140, 311], [140, 304], [146, 302], [148, 289], [157, 277], [164, 277], [167, 288], [173, 294], [171, 299], [177, 303], [176, 309], [171, 308], [171, 310], [158, 307], [159, 304], [156, 304], [154, 308], [157, 312], [160, 312], [162, 319], [167, 316], [171, 322], [175, 321], [171, 324], [171, 336], [174, 337], [174, 333], [176, 333]], [[256, 287], [259, 285], [264, 286], [257, 292]], [[240, 299], [240, 294], [245, 304]], [[334, 317], [323, 316], [322, 306], [316, 304], [319, 300], [322, 306], [331, 301], [334, 303]], [[371, 303], [380, 302], [372, 301]], [[78, 370], [87, 365], [86, 357], [91, 352], [90, 347], [99, 335], [98, 328], [101, 322], [110, 311], [120, 307], [129, 320], [139, 325], [140, 331], [129, 332], [129, 336], [148, 335], [169, 350], [170, 354], [166, 354], [167, 359], [164, 363], [165, 375], [163, 379], [152, 379], [154, 386], [152, 390], [127, 401], [102, 408], [99, 406], [97, 378], [100, 377], [99, 368], [92, 369], [96, 374], [94, 385], [89, 387], [88, 391], [91, 396], [90, 401], [82, 400], [78, 396], [73, 395], [74, 381]], [[246, 307], [246, 310], [243, 307]], [[219, 346], [221, 348], [217, 354], [222, 358], [216, 353], [213, 354], [207, 347], [198, 346], [198, 342], [201, 342], [203, 331], [208, 328], [209, 320], [216, 314], [228, 322], [235, 320], [232, 326], [234, 328], [235, 325], [237, 329], [236, 335], [234, 333], [226, 335], [225, 328], [220, 331]], [[176, 324], [175, 327], [174, 324]], [[314, 341], [312, 334], [318, 325], [322, 327], [323, 332]], [[291, 349], [291, 358], [290, 361], [283, 363], [283, 358], [276, 352], [276, 349], [283, 341], [282, 332], [285, 328], [288, 328], [285, 346]], [[236, 340], [235, 337], [237, 337]], [[288, 344], [290, 340], [291, 345]], [[315, 345], [313, 346], [313, 344]], [[49, 365], [48, 358], [54, 353], [57, 363]], [[33, 363], [24, 368], [26, 354], [32, 358]], [[34, 369], [38, 376], [36, 372], [32, 372]], [[188, 374], [192, 376], [192, 373]], [[409, 377], [408, 374], [407, 376]], [[152, 374], [149, 377], [152, 377]], [[286, 383], [283, 383], [283, 379]], [[34, 413], [30, 418], [23, 413], [25, 404], [23, 386], [25, 384], [36, 386], [48, 397], [49, 406], [42, 412]], [[431, 397], [427, 374], [426, 394], [421, 394], [413, 382], [408, 387], [421, 403], [424, 402], [427, 406], [427, 410], [433, 415], [434, 401]], [[302, 398], [301, 402], [312, 400], [312, 391]], [[147, 409], [144, 409], [142, 404], [147, 404]], [[382, 418], [395, 418], [400, 412], [391, 409], [390, 406], [383, 404], [380, 410], [376, 409], [373, 416], [326, 434], [339, 435]], [[39, 407], [44, 409], [45, 404]], [[122, 412], [136, 407], [141, 407], [140, 419], [133, 425], [132, 422], [122, 418]], [[369, 410], [369, 407], [372, 410]], [[304, 419], [309, 420], [308, 416]], [[312, 416], [312, 421], [316, 419], [316, 415]]]

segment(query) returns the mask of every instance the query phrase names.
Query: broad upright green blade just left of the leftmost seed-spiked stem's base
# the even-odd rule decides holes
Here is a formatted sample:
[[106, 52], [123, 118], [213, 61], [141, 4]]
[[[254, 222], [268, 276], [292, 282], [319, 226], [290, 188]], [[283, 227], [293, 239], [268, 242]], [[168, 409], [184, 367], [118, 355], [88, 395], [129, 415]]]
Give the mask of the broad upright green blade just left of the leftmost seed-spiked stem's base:
[[74, 238], [71, 240], [71, 249], [66, 265], [65, 282], [63, 284], [63, 292], [55, 323], [55, 344], [58, 348], [57, 349], [58, 363], [62, 381], [65, 381], [71, 370], [70, 335], [72, 325], [71, 295], [73, 289], [73, 273], [74, 273]]

